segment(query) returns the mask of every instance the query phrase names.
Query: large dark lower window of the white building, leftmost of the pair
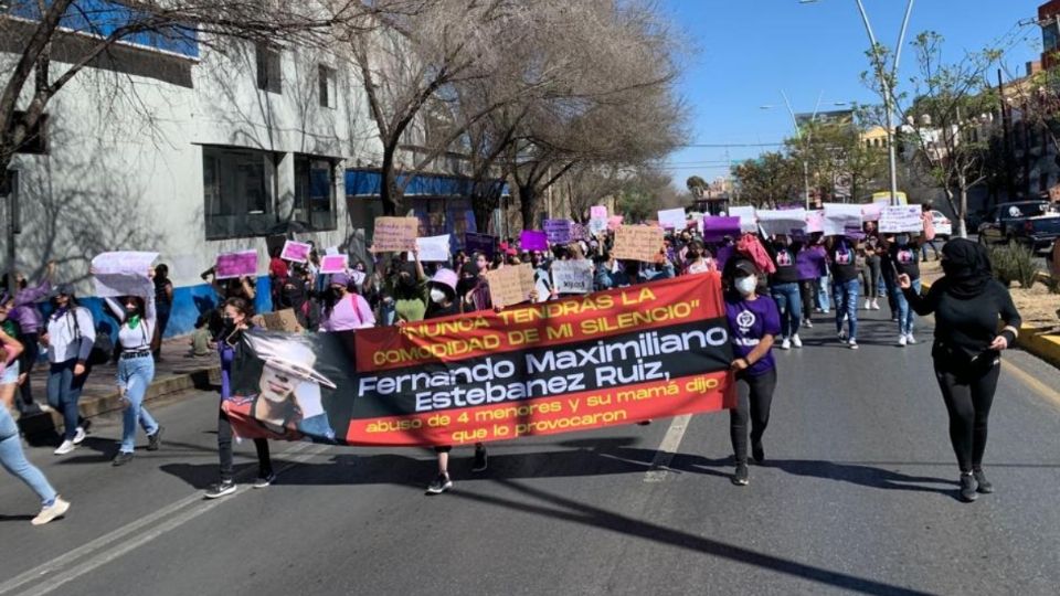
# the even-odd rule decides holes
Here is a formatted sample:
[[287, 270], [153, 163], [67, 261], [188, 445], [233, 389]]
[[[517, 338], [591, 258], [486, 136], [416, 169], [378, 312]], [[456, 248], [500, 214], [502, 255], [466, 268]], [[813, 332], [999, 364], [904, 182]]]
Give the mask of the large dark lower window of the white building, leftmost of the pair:
[[269, 151], [203, 146], [206, 240], [264, 236], [276, 223], [276, 164]]

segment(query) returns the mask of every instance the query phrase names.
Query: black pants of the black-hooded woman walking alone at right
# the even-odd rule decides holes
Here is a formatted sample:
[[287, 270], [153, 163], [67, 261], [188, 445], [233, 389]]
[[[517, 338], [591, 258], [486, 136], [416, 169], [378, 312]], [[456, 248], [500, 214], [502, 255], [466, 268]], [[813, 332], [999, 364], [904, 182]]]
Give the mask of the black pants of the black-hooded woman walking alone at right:
[[935, 359], [935, 377], [950, 414], [950, 441], [961, 471], [977, 470], [986, 451], [986, 427], [1001, 373], [1001, 359], [954, 364]]

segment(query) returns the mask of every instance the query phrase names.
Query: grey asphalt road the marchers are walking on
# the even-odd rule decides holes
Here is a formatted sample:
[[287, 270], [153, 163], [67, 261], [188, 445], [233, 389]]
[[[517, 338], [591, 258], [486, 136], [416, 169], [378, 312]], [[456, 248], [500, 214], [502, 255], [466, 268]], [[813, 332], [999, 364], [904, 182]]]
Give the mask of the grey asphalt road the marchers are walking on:
[[123, 468], [99, 424], [65, 458], [31, 449], [67, 519], [31, 526], [35, 498], [0, 480], [0, 596], [1057, 594], [1060, 372], [1008, 355], [997, 492], [965, 504], [930, 347], [891, 345], [873, 316], [859, 351], [819, 320], [778, 354], [768, 461], [746, 488], [724, 413], [497, 445], [481, 475], [457, 449], [455, 489], [433, 498], [425, 450], [274, 444], [276, 486], [203, 501], [214, 394], [155, 408], [163, 449]]

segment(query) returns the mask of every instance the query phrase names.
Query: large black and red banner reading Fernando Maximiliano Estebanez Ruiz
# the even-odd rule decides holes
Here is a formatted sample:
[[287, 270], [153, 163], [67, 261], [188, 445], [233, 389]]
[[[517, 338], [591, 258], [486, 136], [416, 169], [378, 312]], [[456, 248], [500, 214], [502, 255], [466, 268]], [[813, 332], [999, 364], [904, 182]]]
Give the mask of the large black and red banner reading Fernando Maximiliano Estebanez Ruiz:
[[460, 445], [733, 407], [717, 274], [403, 327], [252, 331], [243, 437]]

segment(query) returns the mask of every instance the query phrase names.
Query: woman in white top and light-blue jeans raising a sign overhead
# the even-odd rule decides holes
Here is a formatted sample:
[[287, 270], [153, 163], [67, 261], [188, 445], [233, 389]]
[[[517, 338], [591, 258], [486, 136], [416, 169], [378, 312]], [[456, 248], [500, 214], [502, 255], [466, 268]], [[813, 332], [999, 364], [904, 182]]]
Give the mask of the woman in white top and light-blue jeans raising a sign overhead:
[[[151, 274], [153, 277], [153, 273]], [[151, 340], [158, 318], [155, 296], [124, 296], [120, 300], [106, 298], [107, 307], [121, 327], [118, 328], [118, 392], [121, 394], [121, 446], [112, 465], [124, 466], [132, 461], [136, 449], [136, 425], [147, 433], [147, 450], [157, 451], [162, 444], [162, 426], [155, 422], [144, 407], [144, 394], [155, 379], [155, 359], [151, 356]]]

